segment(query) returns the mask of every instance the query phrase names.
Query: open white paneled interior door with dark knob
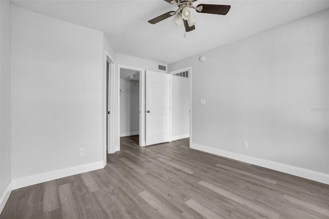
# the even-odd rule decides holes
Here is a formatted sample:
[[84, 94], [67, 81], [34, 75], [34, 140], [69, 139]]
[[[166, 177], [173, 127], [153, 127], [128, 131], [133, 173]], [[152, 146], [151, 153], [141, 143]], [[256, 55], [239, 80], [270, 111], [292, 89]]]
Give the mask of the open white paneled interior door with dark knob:
[[170, 141], [171, 75], [145, 72], [145, 141], [146, 145]]

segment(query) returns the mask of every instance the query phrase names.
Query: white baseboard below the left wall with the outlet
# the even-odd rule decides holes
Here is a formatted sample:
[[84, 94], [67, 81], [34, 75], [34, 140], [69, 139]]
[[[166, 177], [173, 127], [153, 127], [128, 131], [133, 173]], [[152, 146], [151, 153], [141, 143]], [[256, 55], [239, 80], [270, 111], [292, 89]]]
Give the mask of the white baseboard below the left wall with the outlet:
[[103, 169], [106, 165], [106, 159], [98, 162], [87, 163], [85, 165], [65, 168], [61, 170], [49, 171], [46, 173], [35, 174], [18, 179], [12, 179], [12, 190], [32, 186], [42, 182], [72, 176], [80, 173]]

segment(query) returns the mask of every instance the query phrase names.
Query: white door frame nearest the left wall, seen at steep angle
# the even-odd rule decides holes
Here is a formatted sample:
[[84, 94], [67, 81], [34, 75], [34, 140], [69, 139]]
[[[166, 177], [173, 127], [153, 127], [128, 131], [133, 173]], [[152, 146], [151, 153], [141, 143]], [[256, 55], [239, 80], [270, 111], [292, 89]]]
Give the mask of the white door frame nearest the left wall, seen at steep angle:
[[[103, 149], [104, 149], [104, 157], [103, 160], [105, 160], [106, 163], [106, 151], [107, 153], [114, 153], [115, 152], [115, 61], [111, 57], [111, 55], [105, 50], [105, 65], [104, 65], [104, 75], [103, 75]], [[108, 133], [106, 133], [106, 118], [107, 118], [107, 112], [106, 112], [106, 63], [108, 62], [109, 68], [108, 68], [108, 111], [110, 112], [108, 117]], [[108, 137], [108, 148], [106, 148], [106, 136]]]

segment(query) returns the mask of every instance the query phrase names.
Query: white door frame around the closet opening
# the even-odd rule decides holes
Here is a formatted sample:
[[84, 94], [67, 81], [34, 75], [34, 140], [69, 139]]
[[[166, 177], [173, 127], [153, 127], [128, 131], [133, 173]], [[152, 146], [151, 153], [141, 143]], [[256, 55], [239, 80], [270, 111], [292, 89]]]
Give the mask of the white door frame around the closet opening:
[[144, 68], [138, 68], [127, 65], [118, 65], [117, 67], [117, 110], [118, 110], [118, 145], [116, 151], [120, 151], [120, 69], [139, 71], [139, 145], [145, 146], [145, 71]]

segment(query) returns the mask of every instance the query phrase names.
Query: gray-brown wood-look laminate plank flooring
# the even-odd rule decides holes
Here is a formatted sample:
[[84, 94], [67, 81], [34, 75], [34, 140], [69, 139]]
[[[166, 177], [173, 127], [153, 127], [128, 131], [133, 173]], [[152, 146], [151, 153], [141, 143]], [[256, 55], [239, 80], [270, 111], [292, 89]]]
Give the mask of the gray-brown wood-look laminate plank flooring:
[[329, 218], [329, 186], [122, 137], [104, 169], [12, 191], [0, 218]]

